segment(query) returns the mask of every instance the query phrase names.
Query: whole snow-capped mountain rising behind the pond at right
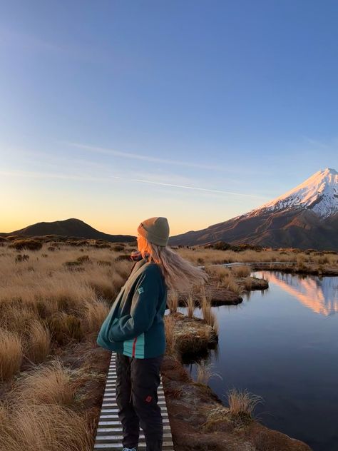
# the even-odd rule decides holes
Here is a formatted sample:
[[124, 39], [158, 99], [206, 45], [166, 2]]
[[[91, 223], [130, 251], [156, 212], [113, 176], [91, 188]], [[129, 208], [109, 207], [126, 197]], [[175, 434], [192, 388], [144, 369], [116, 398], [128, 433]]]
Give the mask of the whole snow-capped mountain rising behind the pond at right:
[[272, 248], [338, 250], [338, 173], [327, 168], [248, 213], [169, 238], [169, 245], [225, 241]]

